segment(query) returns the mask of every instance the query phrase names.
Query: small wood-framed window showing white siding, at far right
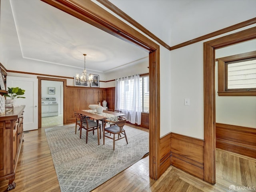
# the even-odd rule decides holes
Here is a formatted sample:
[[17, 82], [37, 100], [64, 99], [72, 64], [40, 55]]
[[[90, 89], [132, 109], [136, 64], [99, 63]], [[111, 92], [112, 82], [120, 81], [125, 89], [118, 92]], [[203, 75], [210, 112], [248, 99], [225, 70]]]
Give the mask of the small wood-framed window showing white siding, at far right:
[[218, 95], [256, 95], [256, 51], [218, 58]]

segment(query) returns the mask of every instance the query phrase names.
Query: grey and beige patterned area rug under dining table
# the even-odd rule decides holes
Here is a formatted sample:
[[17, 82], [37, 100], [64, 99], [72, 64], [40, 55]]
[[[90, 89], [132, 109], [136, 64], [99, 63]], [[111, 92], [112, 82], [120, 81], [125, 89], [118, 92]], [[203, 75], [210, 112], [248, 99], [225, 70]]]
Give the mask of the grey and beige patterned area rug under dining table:
[[97, 132], [75, 134], [75, 124], [45, 129], [54, 167], [62, 192], [89, 192], [122, 170], [138, 162], [149, 152], [148, 132], [124, 126], [128, 139], [100, 139]]

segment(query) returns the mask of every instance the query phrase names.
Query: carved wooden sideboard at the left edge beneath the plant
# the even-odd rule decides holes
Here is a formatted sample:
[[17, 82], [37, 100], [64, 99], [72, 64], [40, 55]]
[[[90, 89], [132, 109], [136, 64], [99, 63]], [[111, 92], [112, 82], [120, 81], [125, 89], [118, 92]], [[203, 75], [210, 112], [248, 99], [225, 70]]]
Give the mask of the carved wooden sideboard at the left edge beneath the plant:
[[8, 190], [15, 188], [15, 171], [23, 140], [25, 105], [0, 115], [0, 180], [8, 179]]

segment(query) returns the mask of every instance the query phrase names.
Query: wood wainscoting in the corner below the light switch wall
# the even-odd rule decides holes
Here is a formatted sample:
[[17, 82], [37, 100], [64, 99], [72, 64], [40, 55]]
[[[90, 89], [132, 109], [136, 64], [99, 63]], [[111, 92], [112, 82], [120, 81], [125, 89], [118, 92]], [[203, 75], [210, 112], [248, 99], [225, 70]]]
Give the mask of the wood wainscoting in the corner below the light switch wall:
[[170, 165], [204, 180], [204, 140], [176, 133], [160, 138], [160, 174]]

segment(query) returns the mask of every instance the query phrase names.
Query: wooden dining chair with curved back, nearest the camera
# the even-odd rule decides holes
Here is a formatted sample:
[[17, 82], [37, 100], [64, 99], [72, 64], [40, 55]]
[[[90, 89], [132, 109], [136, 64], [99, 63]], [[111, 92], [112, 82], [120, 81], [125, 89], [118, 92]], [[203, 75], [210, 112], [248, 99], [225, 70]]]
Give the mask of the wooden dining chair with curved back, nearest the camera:
[[[126, 143], [128, 144], [128, 140], [126, 137], [126, 133], [125, 133], [125, 129], [124, 129], [124, 125], [126, 123], [126, 118], [125, 117], [121, 117], [121, 120], [118, 121], [110, 121], [110, 120], [104, 120], [104, 126], [103, 126], [103, 145], [105, 144], [105, 137], [110, 138], [113, 140], [113, 150], [115, 150], [115, 142], [117, 140], [126, 139]], [[106, 123], [114, 123], [114, 126], [110, 126], [110, 127], [105, 127]], [[110, 136], [108, 136], [107, 134], [110, 133]], [[111, 134], [113, 135], [113, 137], [111, 136]], [[116, 138], [117, 135], [117, 138]], [[123, 136], [122, 136], [123, 135]]]

